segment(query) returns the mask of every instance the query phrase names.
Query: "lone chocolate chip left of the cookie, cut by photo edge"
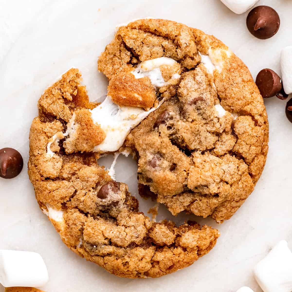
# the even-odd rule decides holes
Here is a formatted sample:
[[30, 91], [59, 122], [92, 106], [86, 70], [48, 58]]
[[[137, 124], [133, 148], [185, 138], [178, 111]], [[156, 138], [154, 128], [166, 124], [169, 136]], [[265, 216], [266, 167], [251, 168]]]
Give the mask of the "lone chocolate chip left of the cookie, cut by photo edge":
[[0, 177], [15, 178], [20, 174], [23, 167], [21, 154], [13, 148], [0, 150]]

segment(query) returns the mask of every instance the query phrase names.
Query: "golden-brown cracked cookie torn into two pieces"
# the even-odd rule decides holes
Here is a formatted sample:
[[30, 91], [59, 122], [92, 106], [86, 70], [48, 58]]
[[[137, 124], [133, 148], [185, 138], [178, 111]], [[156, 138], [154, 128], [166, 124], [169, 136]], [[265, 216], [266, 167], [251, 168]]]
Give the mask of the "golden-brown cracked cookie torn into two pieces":
[[[159, 66], [159, 86], [153, 76], [134, 74], [156, 58], [175, 61]], [[263, 99], [241, 60], [197, 29], [146, 19], [118, 29], [98, 68], [119, 107], [155, 109], [119, 149], [137, 158], [142, 194], [173, 214], [230, 218], [260, 177], [268, 142]], [[127, 185], [97, 163], [95, 145], [108, 133], [88, 118], [97, 105], [80, 81], [77, 69], [65, 73], [44, 92], [32, 122], [28, 172], [40, 208], [72, 251], [118, 276], [159, 277], [191, 265], [219, 232], [155, 223], [138, 211]]]

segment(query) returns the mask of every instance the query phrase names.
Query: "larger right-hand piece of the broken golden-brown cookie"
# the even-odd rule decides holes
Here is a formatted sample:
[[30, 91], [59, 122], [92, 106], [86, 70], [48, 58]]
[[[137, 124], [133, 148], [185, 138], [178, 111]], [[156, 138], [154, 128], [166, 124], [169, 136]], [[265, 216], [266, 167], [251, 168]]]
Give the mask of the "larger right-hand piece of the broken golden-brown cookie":
[[[201, 55], [209, 55], [213, 72], [200, 64]], [[168, 20], [137, 20], [119, 28], [98, 65], [112, 79], [161, 56], [180, 63], [180, 81], [160, 89], [166, 101], [131, 131], [125, 145], [137, 154], [139, 183], [149, 187], [144, 195], [152, 192], [174, 215], [186, 210], [221, 223], [243, 204], [263, 171], [268, 151], [263, 98], [227, 46]]]

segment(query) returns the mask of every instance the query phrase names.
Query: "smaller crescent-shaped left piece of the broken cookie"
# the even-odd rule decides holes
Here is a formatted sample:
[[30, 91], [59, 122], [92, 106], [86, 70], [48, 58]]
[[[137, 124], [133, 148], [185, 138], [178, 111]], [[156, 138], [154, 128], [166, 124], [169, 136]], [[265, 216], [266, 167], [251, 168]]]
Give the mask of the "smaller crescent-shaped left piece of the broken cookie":
[[[64, 100], [65, 96], [70, 100], [69, 95], [78, 93], [76, 76], [80, 78], [76, 69], [65, 73], [50, 88], [52, 100], [59, 84], [68, 88], [62, 92]], [[80, 104], [86, 105], [87, 96], [79, 96], [78, 103], [74, 103], [77, 99], [73, 96], [67, 120], [74, 114], [77, 125], [82, 126], [84, 116], [86, 129], [88, 109]], [[49, 94], [46, 99], [49, 105]], [[58, 105], [50, 114], [49, 109], [39, 106], [39, 117], [32, 122], [28, 174], [40, 208], [72, 251], [120, 277], [144, 278], [187, 267], [213, 248], [219, 232], [211, 227], [194, 222], [179, 227], [168, 221], [151, 222], [138, 211], [138, 201], [130, 195], [127, 185], [114, 181], [98, 165], [97, 153], [68, 154], [69, 138], [69, 142], [62, 139], [52, 143], [51, 155], [48, 142], [66, 130], [66, 123], [60, 118], [63, 103]], [[78, 114], [80, 120], [76, 119]], [[81, 139], [82, 135], [77, 137]]]

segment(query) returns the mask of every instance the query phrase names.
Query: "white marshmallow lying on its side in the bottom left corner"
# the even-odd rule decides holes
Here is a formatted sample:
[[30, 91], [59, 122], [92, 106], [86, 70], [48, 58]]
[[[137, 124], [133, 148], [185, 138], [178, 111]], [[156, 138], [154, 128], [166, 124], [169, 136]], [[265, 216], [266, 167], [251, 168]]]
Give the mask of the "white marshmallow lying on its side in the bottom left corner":
[[48, 279], [46, 265], [38, 253], [0, 250], [0, 283], [4, 287], [41, 287]]

